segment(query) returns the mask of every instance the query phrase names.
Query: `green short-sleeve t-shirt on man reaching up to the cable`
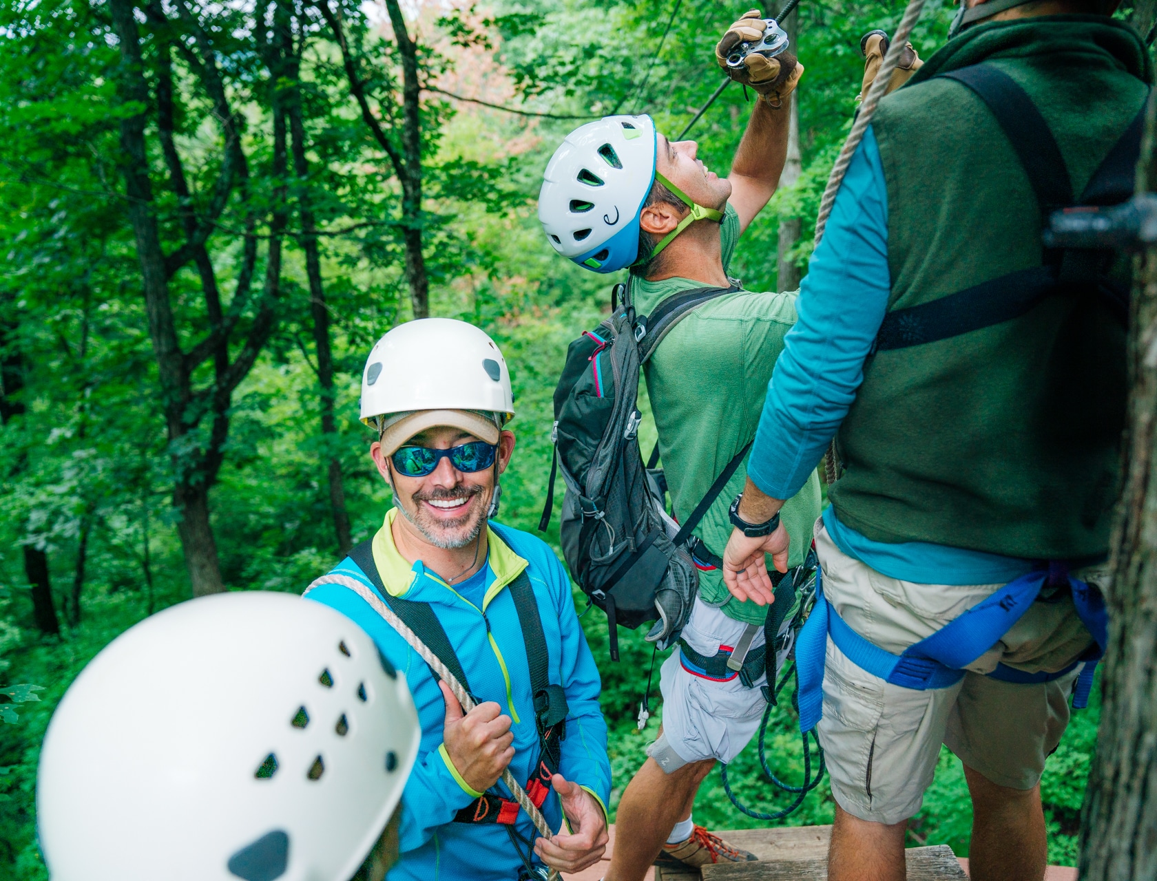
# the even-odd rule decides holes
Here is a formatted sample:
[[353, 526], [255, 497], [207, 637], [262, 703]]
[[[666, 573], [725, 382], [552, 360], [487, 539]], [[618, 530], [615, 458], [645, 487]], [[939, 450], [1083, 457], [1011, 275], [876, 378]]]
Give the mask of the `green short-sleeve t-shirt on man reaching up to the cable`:
[[[730, 205], [721, 238], [727, 271], [739, 238], [739, 217]], [[650, 313], [672, 294], [703, 287], [691, 279], [632, 276], [629, 283], [640, 314]], [[783, 336], [796, 321], [795, 296], [743, 290], [705, 303], [668, 333], [647, 363], [647, 391], [678, 520], [694, 510], [727, 464], [756, 436]], [[715, 554], [723, 554], [731, 535], [728, 508], [746, 475], [744, 461], [695, 528]], [[819, 511], [819, 476], [812, 473], [783, 505], [781, 517], [791, 536], [788, 565], [803, 562]], [[766, 607], [735, 600], [720, 571], [699, 573], [699, 593], [706, 602], [722, 604], [723, 612], [737, 621], [762, 623], [767, 614]]]

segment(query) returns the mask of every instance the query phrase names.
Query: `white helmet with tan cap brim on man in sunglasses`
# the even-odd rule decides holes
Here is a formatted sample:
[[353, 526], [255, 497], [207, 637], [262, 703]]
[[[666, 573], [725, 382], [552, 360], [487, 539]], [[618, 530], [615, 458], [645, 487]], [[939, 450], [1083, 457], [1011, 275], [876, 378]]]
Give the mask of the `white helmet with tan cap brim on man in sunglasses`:
[[389, 456], [435, 425], [496, 444], [514, 419], [510, 371], [485, 331], [451, 318], [420, 318], [379, 339], [362, 371], [361, 421], [377, 428]]

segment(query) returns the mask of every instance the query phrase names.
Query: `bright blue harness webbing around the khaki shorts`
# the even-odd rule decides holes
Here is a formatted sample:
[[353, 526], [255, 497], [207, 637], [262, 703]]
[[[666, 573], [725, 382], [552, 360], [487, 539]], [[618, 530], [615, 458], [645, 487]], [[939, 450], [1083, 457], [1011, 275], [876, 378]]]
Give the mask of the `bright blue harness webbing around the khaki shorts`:
[[1073, 578], [1066, 567], [1049, 564], [1048, 569], [1020, 576], [931, 636], [909, 645], [902, 654], [892, 654], [853, 630], [824, 597], [821, 573], [817, 569], [816, 605], [796, 641], [799, 731], [811, 731], [824, 715], [824, 659], [828, 636], [848, 660], [885, 682], [920, 691], [949, 688], [964, 678], [965, 667], [992, 649], [1020, 620], [1045, 584], [1062, 583], [1069, 584], [1077, 616], [1089, 629], [1095, 645], [1055, 673], [1024, 673], [998, 664], [988, 675], [1020, 684], [1048, 682], [1083, 664], [1073, 696], [1073, 706], [1082, 709], [1089, 702], [1093, 672], [1108, 642], [1108, 613], [1100, 591]]

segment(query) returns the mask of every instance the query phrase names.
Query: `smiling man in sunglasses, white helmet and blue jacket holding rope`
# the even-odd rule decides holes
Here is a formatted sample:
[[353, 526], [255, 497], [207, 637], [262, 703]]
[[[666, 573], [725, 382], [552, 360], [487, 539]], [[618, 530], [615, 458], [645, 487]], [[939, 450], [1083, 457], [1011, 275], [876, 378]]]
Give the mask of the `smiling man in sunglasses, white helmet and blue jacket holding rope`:
[[[464, 715], [354, 591], [310, 592], [374, 638], [418, 706], [421, 747], [389, 878], [514, 881], [545, 878], [545, 866], [594, 865], [606, 846], [611, 783], [598, 669], [558, 557], [491, 520], [515, 449], [502, 353], [464, 321], [400, 325], [366, 362], [361, 417], [378, 432], [370, 456], [395, 506], [333, 571], [377, 592], [478, 701]], [[508, 768], [563, 831], [535, 838], [499, 779]]]

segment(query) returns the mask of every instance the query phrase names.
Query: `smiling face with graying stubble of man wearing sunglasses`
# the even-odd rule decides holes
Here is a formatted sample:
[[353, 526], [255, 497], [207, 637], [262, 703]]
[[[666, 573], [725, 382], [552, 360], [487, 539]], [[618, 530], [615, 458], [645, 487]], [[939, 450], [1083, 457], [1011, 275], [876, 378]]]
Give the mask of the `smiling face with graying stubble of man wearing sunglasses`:
[[[449, 450], [477, 440], [462, 429], [439, 427], [414, 435], [404, 446]], [[486, 525], [498, 474], [504, 471], [513, 451], [514, 435], [503, 431], [499, 438], [496, 468], [492, 465], [479, 472], [462, 472], [454, 467], [449, 457], [442, 457], [426, 476], [407, 477], [382, 456], [378, 444], [371, 449], [378, 471], [393, 487], [398, 510], [429, 543], [440, 548], [462, 548], [478, 538]]]

